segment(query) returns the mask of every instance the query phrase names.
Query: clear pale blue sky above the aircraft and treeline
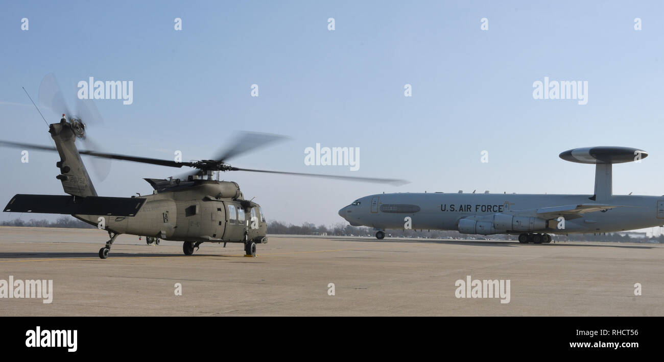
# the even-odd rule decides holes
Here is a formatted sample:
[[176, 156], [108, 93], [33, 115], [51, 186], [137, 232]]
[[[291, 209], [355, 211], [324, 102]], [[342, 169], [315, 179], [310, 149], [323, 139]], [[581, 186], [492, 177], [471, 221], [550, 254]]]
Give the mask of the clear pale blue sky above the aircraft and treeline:
[[[268, 219], [287, 223], [340, 222], [339, 208], [383, 191], [592, 193], [594, 168], [558, 153], [598, 145], [650, 153], [614, 167], [614, 193], [661, 195], [663, 14], [659, 1], [5, 2], [0, 138], [51, 143], [21, 87], [37, 99], [54, 72], [72, 107], [80, 80], [133, 81], [132, 105], [96, 102], [105, 123], [89, 132], [106, 151], [202, 159], [229, 130], [261, 131], [291, 139], [234, 166], [412, 182], [225, 175]], [[634, 30], [635, 17], [643, 30]], [[588, 104], [533, 99], [533, 82], [545, 76], [588, 81]], [[360, 170], [305, 166], [304, 149], [315, 143], [360, 147]], [[489, 163], [480, 162], [483, 150]], [[22, 164], [20, 150], [1, 149], [0, 202], [62, 194], [57, 160], [31, 152]], [[105, 196], [145, 194], [141, 178], [179, 173], [113, 162], [95, 186]]]

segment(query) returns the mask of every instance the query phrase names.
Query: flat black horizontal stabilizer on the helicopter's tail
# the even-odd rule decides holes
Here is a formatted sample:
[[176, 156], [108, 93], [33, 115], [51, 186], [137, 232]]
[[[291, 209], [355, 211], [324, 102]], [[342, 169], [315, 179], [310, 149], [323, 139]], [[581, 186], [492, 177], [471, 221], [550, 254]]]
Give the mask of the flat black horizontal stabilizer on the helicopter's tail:
[[17, 194], [5, 206], [5, 212], [62, 213], [68, 215], [133, 216], [145, 204], [144, 198], [109, 198], [102, 196]]

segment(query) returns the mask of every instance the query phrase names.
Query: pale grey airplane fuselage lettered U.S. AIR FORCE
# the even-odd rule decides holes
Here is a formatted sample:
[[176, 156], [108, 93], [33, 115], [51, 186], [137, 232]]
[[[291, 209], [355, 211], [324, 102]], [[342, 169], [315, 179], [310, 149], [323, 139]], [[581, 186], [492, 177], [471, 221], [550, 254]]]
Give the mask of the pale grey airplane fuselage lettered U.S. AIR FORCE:
[[[524, 231], [542, 233], [605, 233], [664, 225], [664, 196], [610, 196], [601, 201], [592, 195], [556, 194], [447, 194], [398, 193], [365, 196], [339, 210], [339, 215], [354, 226], [375, 229], [459, 230], [459, 220], [471, 218], [493, 220], [493, 216], [536, 217], [546, 221], [544, 227], [498, 230], [495, 233], [518, 234]], [[541, 208], [598, 204], [618, 206], [588, 213], [547, 213]], [[560, 219], [564, 217], [564, 228]], [[410, 219], [408, 219], [410, 218]], [[537, 223], [535, 223], [537, 225]], [[461, 230], [462, 231], [462, 230]], [[462, 231], [463, 232], [463, 231]], [[482, 232], [491, 234], [494, 232]]]

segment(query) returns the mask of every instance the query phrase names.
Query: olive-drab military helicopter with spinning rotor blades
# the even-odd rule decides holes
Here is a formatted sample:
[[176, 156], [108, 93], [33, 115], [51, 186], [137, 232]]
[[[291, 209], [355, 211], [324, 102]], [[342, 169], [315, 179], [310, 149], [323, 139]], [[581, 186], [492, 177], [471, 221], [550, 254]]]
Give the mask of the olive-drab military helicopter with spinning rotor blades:
[[[47, 78], [44, 78], [40, 88], [42, 103], [47, 103], [52, 109], [66, 111], [62, 92], [56, 86], [54, 78]], [[46, 88], [55, 90], [46, 91], [47, 94], [42, 97], [44, 82], [51, 84]], [[46, 101], [43, 101], [44, 98]], [[79, 111], [82, 114], [98, 113], [92, 101], [79, 108], [84, 110]], [[39, 108], [37, 110], [39, 111]], [[214, 180], [214, 172], [263, 172], [389, 184], [405, 183], [403, 180], [386, 178], [238, 168], [226, 163], [234, 156], [254, 151], [284, 138], [266, 133], [244, 133], [230, 147], [216, 154], [214, 159], [189, 162], [93, 150], [79, 151], [75, 141], [86, 140], [86, 123], [83, 117], [71, 113], [70, 115], [63, 113], [60, 122], [48, 125], [48, 133], [55, 142], [55, 147], [10, 141], [0, 141], [0, 145], [58, 152], [60, 161], [56, 162], [56, 166], [60, 172], [56, 178], [62, 182], [62, 188], [68, 195], [17, 194], [11, 198], [4, 211], [70, 214], [86, 223], [96, 225], [99, 229], [108, 231], [110, 237], [106, 245], [99, 250], [101, 259], [108, 258], [113, 242], [121, 234], [145, 236], [148, 243], [159, 239], [183, 241], [185, 255], [192, 255], [194, 249], [198, 249], [201, 243], [224, 243], [224, 247], [226, 243], [243, 243], [246, 255], [256, 257], [256, 244], [268, 242], [263, 210], [256, 202], [244, 199], [236, 182]], [[196, 171], [179, 178], [145, 178], [144, 180], [154, 189], [150, 195], [130, 198], [104, 197], [98, 196], [92, 185], [81, 154], [176, 168], [186, 166], [195, 168]]]

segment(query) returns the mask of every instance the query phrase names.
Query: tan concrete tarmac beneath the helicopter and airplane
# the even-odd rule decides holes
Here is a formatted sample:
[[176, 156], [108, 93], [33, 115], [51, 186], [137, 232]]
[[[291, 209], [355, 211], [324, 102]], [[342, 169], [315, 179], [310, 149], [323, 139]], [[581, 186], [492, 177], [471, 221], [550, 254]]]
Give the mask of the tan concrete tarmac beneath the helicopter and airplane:
[[[664, 316], [660, 244], [270, 235], [252, 258], [120, 235], [102, 260], [106, 240], [0, 227], [0, 282], [53, 280], [52, 303], [0, 298], [0, 316]], [[509, 280], [509, 303], [457, 298], [467, 276]]]

